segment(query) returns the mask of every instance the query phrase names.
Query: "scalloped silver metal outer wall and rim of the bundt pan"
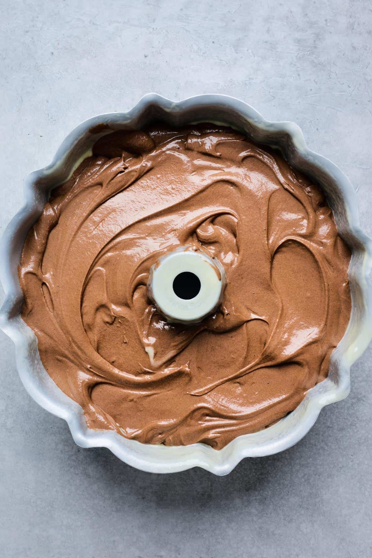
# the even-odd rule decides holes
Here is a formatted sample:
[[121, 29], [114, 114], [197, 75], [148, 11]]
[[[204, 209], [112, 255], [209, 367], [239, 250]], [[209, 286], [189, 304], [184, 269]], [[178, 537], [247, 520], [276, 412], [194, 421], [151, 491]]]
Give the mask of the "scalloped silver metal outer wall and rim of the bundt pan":
[[[142, 444], [113, 431], [89, 429], [82, 408], [67, 397], [45, 371], [36, 336], [20, 315], [23, 296], [17, 265], [28, 230], [40, 216], [50, 190], [64, 182], [89, 154], [94, 142], [108, 133], [102, 124], [109, 124], [110, 130], [138, 129], [155, 119], [175, 126], [197, 122], [224, 124], [256, 142], [279, 148], [294, 169], [305, 172], [322, 187], [334, 211], [339, 234], [352, 252], [349, 268], [351, 316], [344, 337], [332, 353], [327, 379], [310, 389], [296, 410], [279, 422], [254, 434], [236, 437], [221, 450], [200, 443], [189, 446]], [[102, 114], [75, 128], [52, 163], [27, 176], [24, 196], [25, 204], [9, 223], [1, 243], [1, 281], [5, 291], [1, 328], [16, 345], [17, 368], [28, 393], [47, 411], [67, 421], [79, 446], [108, 448], [125, 463], [148, 472], [174, 473], [199, 466], [224, 475], [245, 457], [275, 454], [296, 444], [311, 429], [322, 407], [349, 394], [351, 364], [360, 357], [372, 337], [372, 297], [368, 279], [372, 243], [360, 229], [357, 198], [349, 180], [334, 163], [307, 148], [296, 124], [268, 122], [248, 104], [224, 95], [200, 95], [176, 103], [151, 93], [129, 112]]]

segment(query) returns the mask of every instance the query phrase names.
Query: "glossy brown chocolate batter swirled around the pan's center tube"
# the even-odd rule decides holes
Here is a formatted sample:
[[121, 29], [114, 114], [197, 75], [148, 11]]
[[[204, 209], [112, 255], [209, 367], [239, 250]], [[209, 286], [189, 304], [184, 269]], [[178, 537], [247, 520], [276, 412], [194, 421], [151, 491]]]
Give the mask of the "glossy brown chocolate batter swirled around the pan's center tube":
[[[185, 244], [228, 281], [191, 327], [167, 323], [146, 287]], [[90, 427], [220, 449], [326, 378], [350, 315], [349, 260], [320, 188], [278, 152], [212, 124], [114, 132], [28, 234], [22, 318]]]

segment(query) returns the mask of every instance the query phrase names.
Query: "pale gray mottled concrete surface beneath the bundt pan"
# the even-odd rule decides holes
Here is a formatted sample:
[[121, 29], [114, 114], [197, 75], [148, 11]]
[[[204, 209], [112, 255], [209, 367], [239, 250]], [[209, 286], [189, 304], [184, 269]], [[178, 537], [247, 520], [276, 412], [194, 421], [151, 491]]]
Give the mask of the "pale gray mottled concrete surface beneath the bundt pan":
[[[76, 124], [149, 91], [226, 93], [293, 120], [358, 190], [372, 233], [369, 0], [0, 1], [1, 229], [22, 179]], [[83, 450], [23, 389], [0, 334], [0, 555], [286, 558], [372, 554], [371, 349], [346, 401], [294, 448], [228, 477], [138, 472]]]

